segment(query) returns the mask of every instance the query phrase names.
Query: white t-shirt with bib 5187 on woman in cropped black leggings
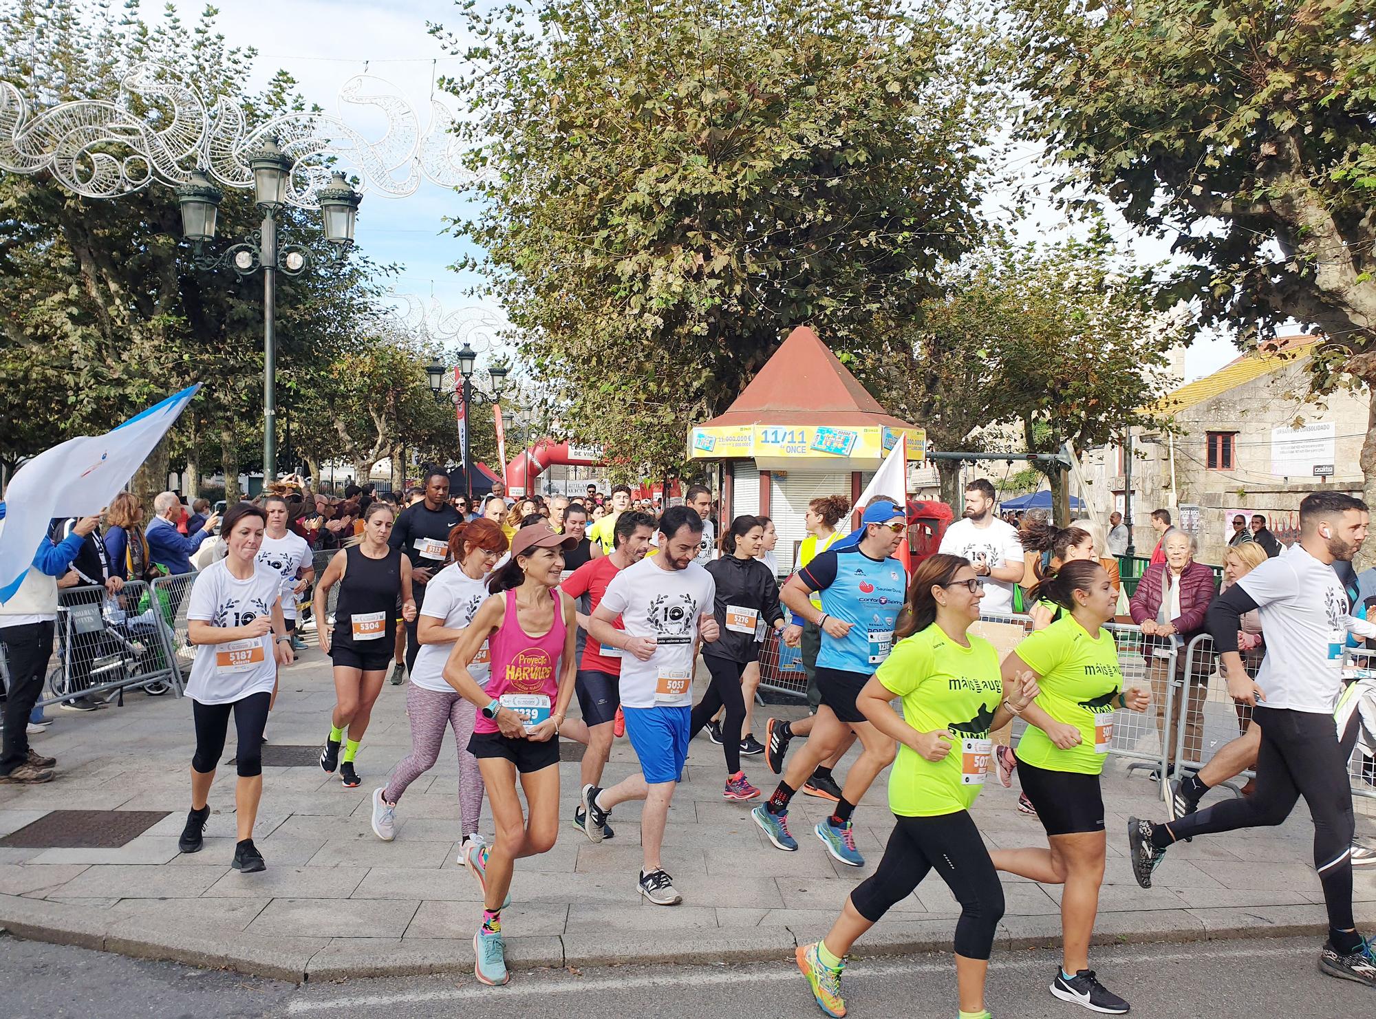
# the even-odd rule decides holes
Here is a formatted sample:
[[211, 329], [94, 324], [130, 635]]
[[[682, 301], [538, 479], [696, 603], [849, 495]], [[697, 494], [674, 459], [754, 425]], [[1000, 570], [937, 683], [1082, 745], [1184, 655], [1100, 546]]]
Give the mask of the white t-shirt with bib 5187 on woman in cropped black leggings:
[[[256, 562], [253, 576], [239, 580], [230, 573], [227, 560], [220, 559], [197, 574], [186, 617], [212, 627], [245, 627], [259, 616], [271, 618], [272, 605], [281, 596], [282, 577], [275, 570]], [[197, 644], [186, 695], [201, 704], [231, 704], [249, 694], [272, 693], [275, 639], [270, 629], [260, 638]]]

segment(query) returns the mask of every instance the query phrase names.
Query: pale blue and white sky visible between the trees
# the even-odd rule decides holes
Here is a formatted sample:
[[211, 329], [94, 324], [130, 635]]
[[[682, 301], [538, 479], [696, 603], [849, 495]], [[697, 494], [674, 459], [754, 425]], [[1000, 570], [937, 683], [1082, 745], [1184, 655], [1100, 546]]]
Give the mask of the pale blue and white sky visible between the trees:
[[[191, 23], [205, 7], [205, 0], [173, 0], [184, 22]], [[158, 8], [150, 3], [144, 17], [153, 19]], [[255, 45], [259, 58], [250, 91], [264, 85], [278, 70], [288, 70], [301, 94], [369, 136], [377, 136], [381, 120], [370, 110], [344, 107], [337, 95], [352, 76], [367, 73], [389, 81], [416, 106], [421, 131], [429, 121], [431, 95], [446, 96], [433, 88], [436, 74], [453, 72], [461, 59], [446, 56], [427, 32], [427, 22], [455, 28], [458, 8], [451, 0], [409, 0], [409, 3], [373, 3], [372, 0], [231, 0], [220, 8], [219, 29], [230, 45]], [[450, 109], [455, 109], [451, 96]], [[1014, 165], [1032, 162], [1035, 151], [1014, 153]], [[1043, 175], [1044, 176], [1044, 175]], [[991, 197], [998, 205], [1000, 196]], [[472, 246], [447, 235], [444, 216], [464, 213], [465, 202], [453, 191], [422, 182], [405, 198], [391, 198], [377, 191], [365, 196], [358, 216], [358, 244], [380, 263], [396, 263], [398, 295], [410, 295], [429, 306], [428, 317], [455, 315], [465, 308], [486, 310], [497, 304], [487, 297], [469, 296], [480, 285], [473, 274], [460, 275], [453, 266]], [[1051, 222], [1055, 213], [1047, 205], [1033, 212], [1033, 219]], [[1035, 227], [1032, 227], [1035, 231]], [[1139, 237], [1117, 220], [1115, 237], [1131, 248], [1142, 262], [1168, 258], [1164, 241]], [[472, 314], [472, 313], [469, 313]], [[475, 343], [482, 348], [482, 343]], [[1185, 380], [1208, 375], [1237, 357], [1237, 348], [1225, 337], [1201, 336], [1185, 353]]]

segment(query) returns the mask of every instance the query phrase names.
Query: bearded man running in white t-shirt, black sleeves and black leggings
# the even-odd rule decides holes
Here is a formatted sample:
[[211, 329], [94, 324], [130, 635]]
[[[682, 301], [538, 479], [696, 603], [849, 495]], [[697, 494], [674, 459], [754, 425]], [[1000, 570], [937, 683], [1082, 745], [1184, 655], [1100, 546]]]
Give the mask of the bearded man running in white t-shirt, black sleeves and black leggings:
[[[1342, 745], [1333, 719], [1343, 691], [1348, 603], [1332, 565], [1357, 554], [1366, 537], [1366, 512], [1365, 503], [1340, 492], [1306, 496], [1299, 504], [1299, 541], [1210, 606], [1208, 629], [1222, 651], [1227, 691], [1234, 701], [1255, 705], [1262, 728], [1256, 790], [1164, 825], [1128, 818], [1128, 851], [1138, 884], [1150, 888], [1152, 872], [1176, 840], [1280, 825], [1303, 796], [1314, 819], [1314, 869], [1328, 906], [1328, 942], [1318, 968], [1376, 987], [1376, 950], [1353, 921], [1351, 746]], [[1255, 682], [1237, 651], [1240, 620], [1252, 609], [1260, 610], [1267, 649]]]

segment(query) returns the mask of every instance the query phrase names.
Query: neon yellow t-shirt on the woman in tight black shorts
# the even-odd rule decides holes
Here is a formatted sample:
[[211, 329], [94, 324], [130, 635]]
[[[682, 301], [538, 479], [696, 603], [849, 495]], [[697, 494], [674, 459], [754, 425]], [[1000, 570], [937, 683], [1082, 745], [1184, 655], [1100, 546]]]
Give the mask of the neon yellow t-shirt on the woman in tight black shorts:
[[1038, 706], [1057, 722], [1077, 727], [1082, 739], [1079, 746], [1062, 750], [1040, 728], [1028, 726], [1018, 741], [1018, 760], [1049, 771], [1104, 771], [1123, 689], [1113, 635], [1099, 629], [1090, 636], [1073, 616], [1065, 614], [1013, 650], [1042, 677]]

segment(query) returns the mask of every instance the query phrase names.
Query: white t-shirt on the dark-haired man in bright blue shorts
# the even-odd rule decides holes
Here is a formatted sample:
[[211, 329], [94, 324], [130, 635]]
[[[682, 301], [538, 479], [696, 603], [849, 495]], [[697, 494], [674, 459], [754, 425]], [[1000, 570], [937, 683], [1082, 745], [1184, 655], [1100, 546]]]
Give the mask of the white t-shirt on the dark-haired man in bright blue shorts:
[[692, 704], [698, 620], [713, 610], [717, 582], [698, 563], [665, 570], [645, 556], [611, 578], [599, 609], [621, 616], [630, 636], [655, 639], [649, 661], [621, 655], [621, 702], [626, 708]]

